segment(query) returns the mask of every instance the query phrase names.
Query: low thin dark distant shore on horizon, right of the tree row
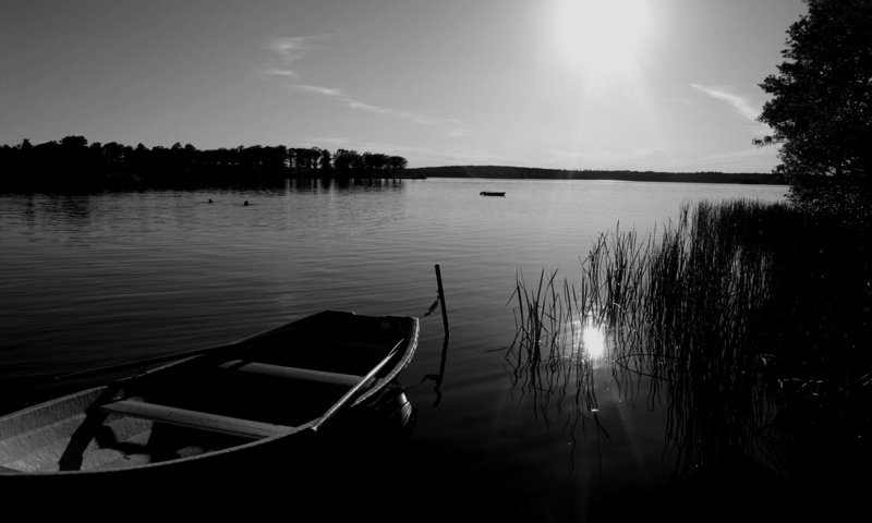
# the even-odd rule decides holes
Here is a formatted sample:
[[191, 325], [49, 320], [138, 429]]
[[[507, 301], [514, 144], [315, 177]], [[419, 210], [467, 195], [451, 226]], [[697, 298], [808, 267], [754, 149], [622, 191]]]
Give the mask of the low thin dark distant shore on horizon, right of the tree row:
[[572, 171], [506, 166], [449, 166], [405, 169], [402, 178], [486, 178], [504, 180], [616, 180], [628, 182], [743, 183], [784, 185], [785, 180], [754, 172]]

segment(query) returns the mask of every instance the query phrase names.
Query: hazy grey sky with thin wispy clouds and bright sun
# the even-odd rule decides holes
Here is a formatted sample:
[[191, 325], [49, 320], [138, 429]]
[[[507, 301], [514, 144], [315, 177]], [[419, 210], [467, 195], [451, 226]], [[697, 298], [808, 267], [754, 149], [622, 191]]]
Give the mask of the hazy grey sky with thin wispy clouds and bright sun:
[[770, 172], [801, 0], [0, 0], [0, 144]]

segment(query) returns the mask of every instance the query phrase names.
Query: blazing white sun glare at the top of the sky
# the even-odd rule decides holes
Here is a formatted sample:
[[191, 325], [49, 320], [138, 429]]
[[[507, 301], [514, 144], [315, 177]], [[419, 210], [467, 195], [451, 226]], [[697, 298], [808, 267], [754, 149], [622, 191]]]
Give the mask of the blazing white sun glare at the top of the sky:
[[565, 66], [597, 78], [635, 68], [649, 33], [645, 0], [556, 0], [554, 45]]

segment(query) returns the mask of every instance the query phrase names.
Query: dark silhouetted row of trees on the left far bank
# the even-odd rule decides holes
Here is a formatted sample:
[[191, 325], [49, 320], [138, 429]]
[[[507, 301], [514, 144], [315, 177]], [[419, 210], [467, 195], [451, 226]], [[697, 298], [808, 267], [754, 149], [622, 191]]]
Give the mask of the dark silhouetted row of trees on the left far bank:
[[399, 178], [407, 165], [401, 156], [341, 148], [254, 145], [201, 150], [181, 143], [149, 148], [117, 142], [88, 144], [84, 136], [66, 136], [0, 147], [0, 190], [66, 192], [270, 184], [289, 178]]

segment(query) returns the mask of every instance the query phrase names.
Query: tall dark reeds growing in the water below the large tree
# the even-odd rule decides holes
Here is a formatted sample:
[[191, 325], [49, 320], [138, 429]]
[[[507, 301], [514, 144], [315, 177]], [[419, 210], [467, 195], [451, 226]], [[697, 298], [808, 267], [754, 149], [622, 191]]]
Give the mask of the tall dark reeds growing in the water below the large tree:
[[519, 273], [507, 358], [519, 380], [574, 388], [595, 412], [591, 363], [567, 328], [595, 321], [611, 377], [666, 406], [666, 450], [679, 471], [722, 473], [749, 459], [780, 466], [786, 440], [821, 434], [868, 455], [864, 232], [786, 204], [685, 205], [644, 239], [601, 235], [579, 278], [543, 271], [529, 287]]

